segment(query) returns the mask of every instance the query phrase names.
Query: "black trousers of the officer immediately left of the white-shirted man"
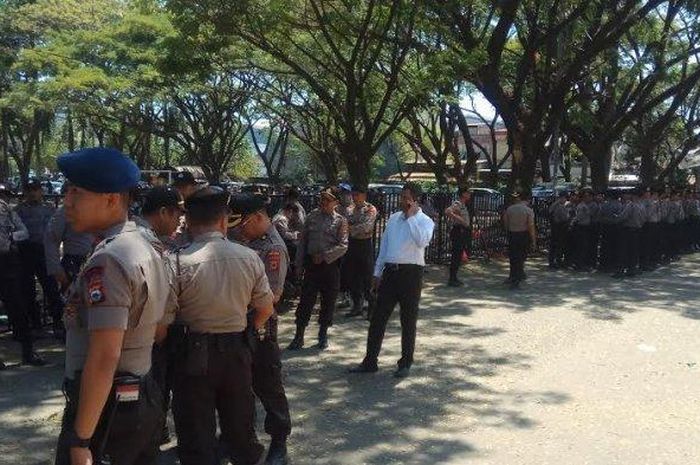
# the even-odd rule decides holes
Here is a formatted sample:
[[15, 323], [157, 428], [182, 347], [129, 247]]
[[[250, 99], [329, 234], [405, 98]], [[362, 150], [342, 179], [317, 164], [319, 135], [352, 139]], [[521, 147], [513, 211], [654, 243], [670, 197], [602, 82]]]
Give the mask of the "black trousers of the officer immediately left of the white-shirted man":
[[370, 293], [372, 272], [374, 271], [372, 239], [351, 238], [348, 241], [348, 253], [345, 254], [344, 259], [343, 266], [349, 275], [353, 310], [362, 310], [363, 299], [367, 299], [370, 307], [373, 306], [373, 298]]

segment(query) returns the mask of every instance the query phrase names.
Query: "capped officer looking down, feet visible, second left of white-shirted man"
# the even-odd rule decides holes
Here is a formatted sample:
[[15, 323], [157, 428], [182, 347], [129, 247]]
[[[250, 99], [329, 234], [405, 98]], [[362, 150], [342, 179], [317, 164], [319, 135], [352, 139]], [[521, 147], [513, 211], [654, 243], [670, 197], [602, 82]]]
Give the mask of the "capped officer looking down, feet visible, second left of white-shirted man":
[[339, 259], [348, 250], [348, 223], [336, 211], [339, 192], [329, 187], [320, 194], [320, 206], [309, 213], [299, 239], [296, 271], [304, 270], [301, 300], [296, 311], [296, 332], [289, 350], [304, 347], [304, 332], [311, 319], [311, 310], [321, 294], [318, 348], [328, 347], [328, 328], [333, 324], [338, 289], [340, 287]]

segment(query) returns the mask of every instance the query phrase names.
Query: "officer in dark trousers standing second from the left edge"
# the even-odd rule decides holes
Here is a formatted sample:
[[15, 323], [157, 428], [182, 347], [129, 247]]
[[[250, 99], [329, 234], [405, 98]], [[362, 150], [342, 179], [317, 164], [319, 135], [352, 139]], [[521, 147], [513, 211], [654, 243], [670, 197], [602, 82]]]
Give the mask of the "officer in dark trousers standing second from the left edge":
[[53, 321], [55, 335], [62, 337], [63, 301], [58, 291], [56, 280], [46, 272], [46, 255], [44, 253], [44, 234], [46, 226], [54, 214], [54, 208], [43, 201], [41, 182], [30, 180], [25, 188], [25, 200], [15, 211], [29, 231], [29, 239], [19, 244], [22, 258], [22, 291], [29, 306], [29, 314], [34, 329], [40, 329], [41, 309], [36, 301], [36, 279], [39, 280], [44, 296], [49, 304], [49, 314]]

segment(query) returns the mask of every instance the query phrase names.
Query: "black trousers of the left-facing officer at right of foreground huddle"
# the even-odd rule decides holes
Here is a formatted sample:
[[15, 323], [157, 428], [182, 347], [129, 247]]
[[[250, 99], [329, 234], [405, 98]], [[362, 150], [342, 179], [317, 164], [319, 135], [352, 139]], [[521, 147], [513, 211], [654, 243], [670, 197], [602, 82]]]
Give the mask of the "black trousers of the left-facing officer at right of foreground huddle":
[[292, 432], [292, 420], [282, 384], [276, 316], [267, 321], [267, 336], [253, 352], [253, 392], [265, 407], [265, 432], [273, 439], [284, 440]]

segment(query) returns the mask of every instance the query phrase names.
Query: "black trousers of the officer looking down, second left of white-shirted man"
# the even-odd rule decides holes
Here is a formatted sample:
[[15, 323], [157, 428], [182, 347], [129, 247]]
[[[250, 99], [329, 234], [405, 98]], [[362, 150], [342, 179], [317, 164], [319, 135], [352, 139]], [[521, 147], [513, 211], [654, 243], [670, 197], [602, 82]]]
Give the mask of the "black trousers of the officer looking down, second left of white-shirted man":
[[340, 265], [320, 263], [315, 265], [311, 257], [306, 257], [304, 264], [304, 283], [301, 288], [301, 299], [296, 311], [296, 325], [306, 327], [311, 319], [311, 310], [316, 305], [316, 299], [321, 294], [321, 312], [318, 322], [321, 326], [333, 325], [333, 313], [340, 289]]

